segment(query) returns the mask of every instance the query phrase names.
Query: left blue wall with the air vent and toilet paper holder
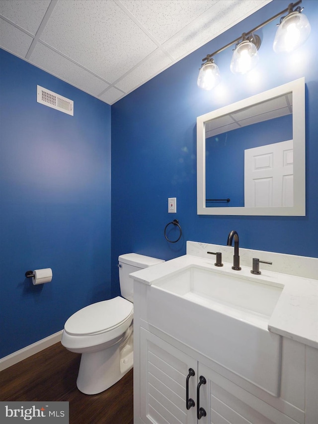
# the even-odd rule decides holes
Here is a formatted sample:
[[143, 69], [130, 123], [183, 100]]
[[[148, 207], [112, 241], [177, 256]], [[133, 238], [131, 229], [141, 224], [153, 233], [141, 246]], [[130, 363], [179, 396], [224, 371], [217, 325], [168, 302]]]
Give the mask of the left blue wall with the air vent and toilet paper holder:
[[[0, 357], [110, 296], [110, 106], [0, 51]], [[36, 102], [41, 85], [74, 116]], [[25, 271], [51, 267], [33, 286]]]

